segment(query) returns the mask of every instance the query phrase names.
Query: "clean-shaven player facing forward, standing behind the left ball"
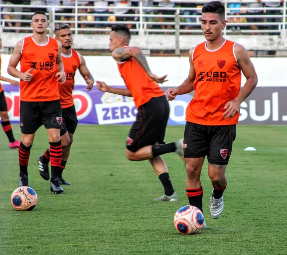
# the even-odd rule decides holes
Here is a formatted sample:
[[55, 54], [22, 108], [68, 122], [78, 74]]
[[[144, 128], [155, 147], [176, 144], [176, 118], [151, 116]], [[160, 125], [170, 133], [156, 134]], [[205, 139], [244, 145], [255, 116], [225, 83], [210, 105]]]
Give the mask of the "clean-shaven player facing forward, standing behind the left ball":
[[[45, 12], [32, 16], [33, 35], [18, 41], [8, 64], [8, 74], [20, 78], [19, 186], [29, 186], [28, 162], [35, 132], [41, 125], [47, 131], [50, 144], [50, 190], [62, 193], [58, 172], [62, 158], [60, 129], [62, 111], [58, 82], [66, 75], [61, 58], [61, 43], [47, 36], [48, 20]], [[16, 69], [20, 61], [20, 71]]]

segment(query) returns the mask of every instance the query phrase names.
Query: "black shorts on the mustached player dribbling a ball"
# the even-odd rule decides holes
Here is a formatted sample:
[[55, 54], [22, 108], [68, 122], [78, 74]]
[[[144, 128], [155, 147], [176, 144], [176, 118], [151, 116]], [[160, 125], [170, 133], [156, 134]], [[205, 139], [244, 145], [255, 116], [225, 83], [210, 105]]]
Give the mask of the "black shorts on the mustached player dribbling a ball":
[[236, 125], [207, 126], [186, 122], [183, 139], [185, 158], [207, 156], [208, 163], [227, 165], [236, 137]]

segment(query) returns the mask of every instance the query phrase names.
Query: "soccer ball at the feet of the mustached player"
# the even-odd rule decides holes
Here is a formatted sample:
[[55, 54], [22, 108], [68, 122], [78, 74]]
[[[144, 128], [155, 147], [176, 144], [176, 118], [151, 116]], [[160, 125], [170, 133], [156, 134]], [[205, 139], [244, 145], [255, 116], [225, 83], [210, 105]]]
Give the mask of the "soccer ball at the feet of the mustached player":
[[202, 212], [192, 205], [181, 207], [174, 215], [174, 226], [183, 235], [198, 233], [203, 227], [203, 221]]

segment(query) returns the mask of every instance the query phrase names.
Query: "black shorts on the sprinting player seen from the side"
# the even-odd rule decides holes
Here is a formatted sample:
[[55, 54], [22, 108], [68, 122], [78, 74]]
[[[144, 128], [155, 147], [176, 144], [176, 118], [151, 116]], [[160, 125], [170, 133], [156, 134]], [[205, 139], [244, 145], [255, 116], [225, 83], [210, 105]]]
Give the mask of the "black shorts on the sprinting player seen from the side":
[[135, 152], [156, 142], [164, 144], [168, 118], [169, 104], [165, 96], [153, 97], [141, 105], [127, 137], [127, 149]]

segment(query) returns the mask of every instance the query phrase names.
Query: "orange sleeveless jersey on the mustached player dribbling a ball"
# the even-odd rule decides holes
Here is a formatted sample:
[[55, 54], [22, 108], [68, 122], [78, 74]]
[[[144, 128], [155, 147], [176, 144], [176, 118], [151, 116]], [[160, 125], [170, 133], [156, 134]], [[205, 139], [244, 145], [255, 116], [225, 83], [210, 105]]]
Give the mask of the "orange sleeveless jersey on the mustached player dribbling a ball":
[[192, 54], [195, 68], [194, 97], [186, 108], [186, 120], [200, 125], [233, 125], [239, 113], [225, 119], [225, 104], [237, 97], [241, 70], [234, 53], [236, 43], [226, 40], [217, 50], [198, 44]]

